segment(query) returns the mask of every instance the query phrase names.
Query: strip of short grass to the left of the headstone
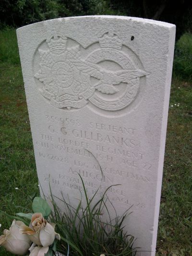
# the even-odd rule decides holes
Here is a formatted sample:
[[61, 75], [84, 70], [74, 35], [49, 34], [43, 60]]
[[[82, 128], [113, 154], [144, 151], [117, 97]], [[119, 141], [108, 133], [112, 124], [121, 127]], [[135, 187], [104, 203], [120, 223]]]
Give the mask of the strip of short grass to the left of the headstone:
[[[31, 212], [32, 200], [38, 195], [16, 32], [6, 29], [0, 31], [0, 210], [18, 219], [15, 214]], [[12, 219], [0, 212], [0, 234]], [[11, 255], [0, 248], [0, 256]]]

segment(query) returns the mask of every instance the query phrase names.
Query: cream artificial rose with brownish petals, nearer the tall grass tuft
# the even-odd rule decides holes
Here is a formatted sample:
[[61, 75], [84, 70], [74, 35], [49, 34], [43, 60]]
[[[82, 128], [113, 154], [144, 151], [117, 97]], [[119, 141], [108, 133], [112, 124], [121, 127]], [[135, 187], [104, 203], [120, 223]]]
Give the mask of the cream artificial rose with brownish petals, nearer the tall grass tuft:
[[60, 240], [60, 235], [55, 232], [55, 224], [48, 223], [41, 213], [34, 213], [29, 227], [22, 225], [20, 232], [28, 235], [29, 239], [39, 246], [49, 246], [55, 238]]

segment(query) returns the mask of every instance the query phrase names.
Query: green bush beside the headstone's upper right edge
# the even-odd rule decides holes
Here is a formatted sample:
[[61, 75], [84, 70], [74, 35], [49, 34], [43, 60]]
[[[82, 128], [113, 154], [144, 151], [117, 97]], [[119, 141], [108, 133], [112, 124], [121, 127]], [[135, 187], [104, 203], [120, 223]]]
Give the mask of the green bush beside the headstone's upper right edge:
[[180, 79], [192, 82], [192, 34], [185, 33], [175, 46], [173, 73]]

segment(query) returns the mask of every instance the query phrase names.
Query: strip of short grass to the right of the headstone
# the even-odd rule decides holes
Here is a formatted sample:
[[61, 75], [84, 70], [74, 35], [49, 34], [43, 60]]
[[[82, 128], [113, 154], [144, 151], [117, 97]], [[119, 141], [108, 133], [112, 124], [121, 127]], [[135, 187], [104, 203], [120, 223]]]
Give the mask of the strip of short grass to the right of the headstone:
[[191, 256], [191, 83], [173, 80], [169, 106], [157, 251], [159, 256]]

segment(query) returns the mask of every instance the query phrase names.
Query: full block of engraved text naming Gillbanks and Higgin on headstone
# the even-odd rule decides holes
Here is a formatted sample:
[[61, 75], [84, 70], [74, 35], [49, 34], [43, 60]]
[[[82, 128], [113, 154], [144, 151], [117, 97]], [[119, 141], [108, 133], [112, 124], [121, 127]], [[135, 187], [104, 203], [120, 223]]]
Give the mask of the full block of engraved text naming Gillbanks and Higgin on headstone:
[[155, 182], [154, 163], [143, 149], [138, 128], [112, 121], [84, 125], [80, 117], [59, 114], [45, 113], [45, 118], [47, 133], [39, 133], [36, 139], [36, 157], [60, 169], [52, 176], [49, 172], [44, 174], [45, 182], [64, 193], [73, 190], [78, 197], [79, 191], [84, 191], [80, 175], [89, 196], [102, 195], [112, 186], [107, 192], [111, 203], [139, 211], [147, 209], [148, 202], [142, 196], [130, 198], [126, 188], [139, 186], [148, 190]]

